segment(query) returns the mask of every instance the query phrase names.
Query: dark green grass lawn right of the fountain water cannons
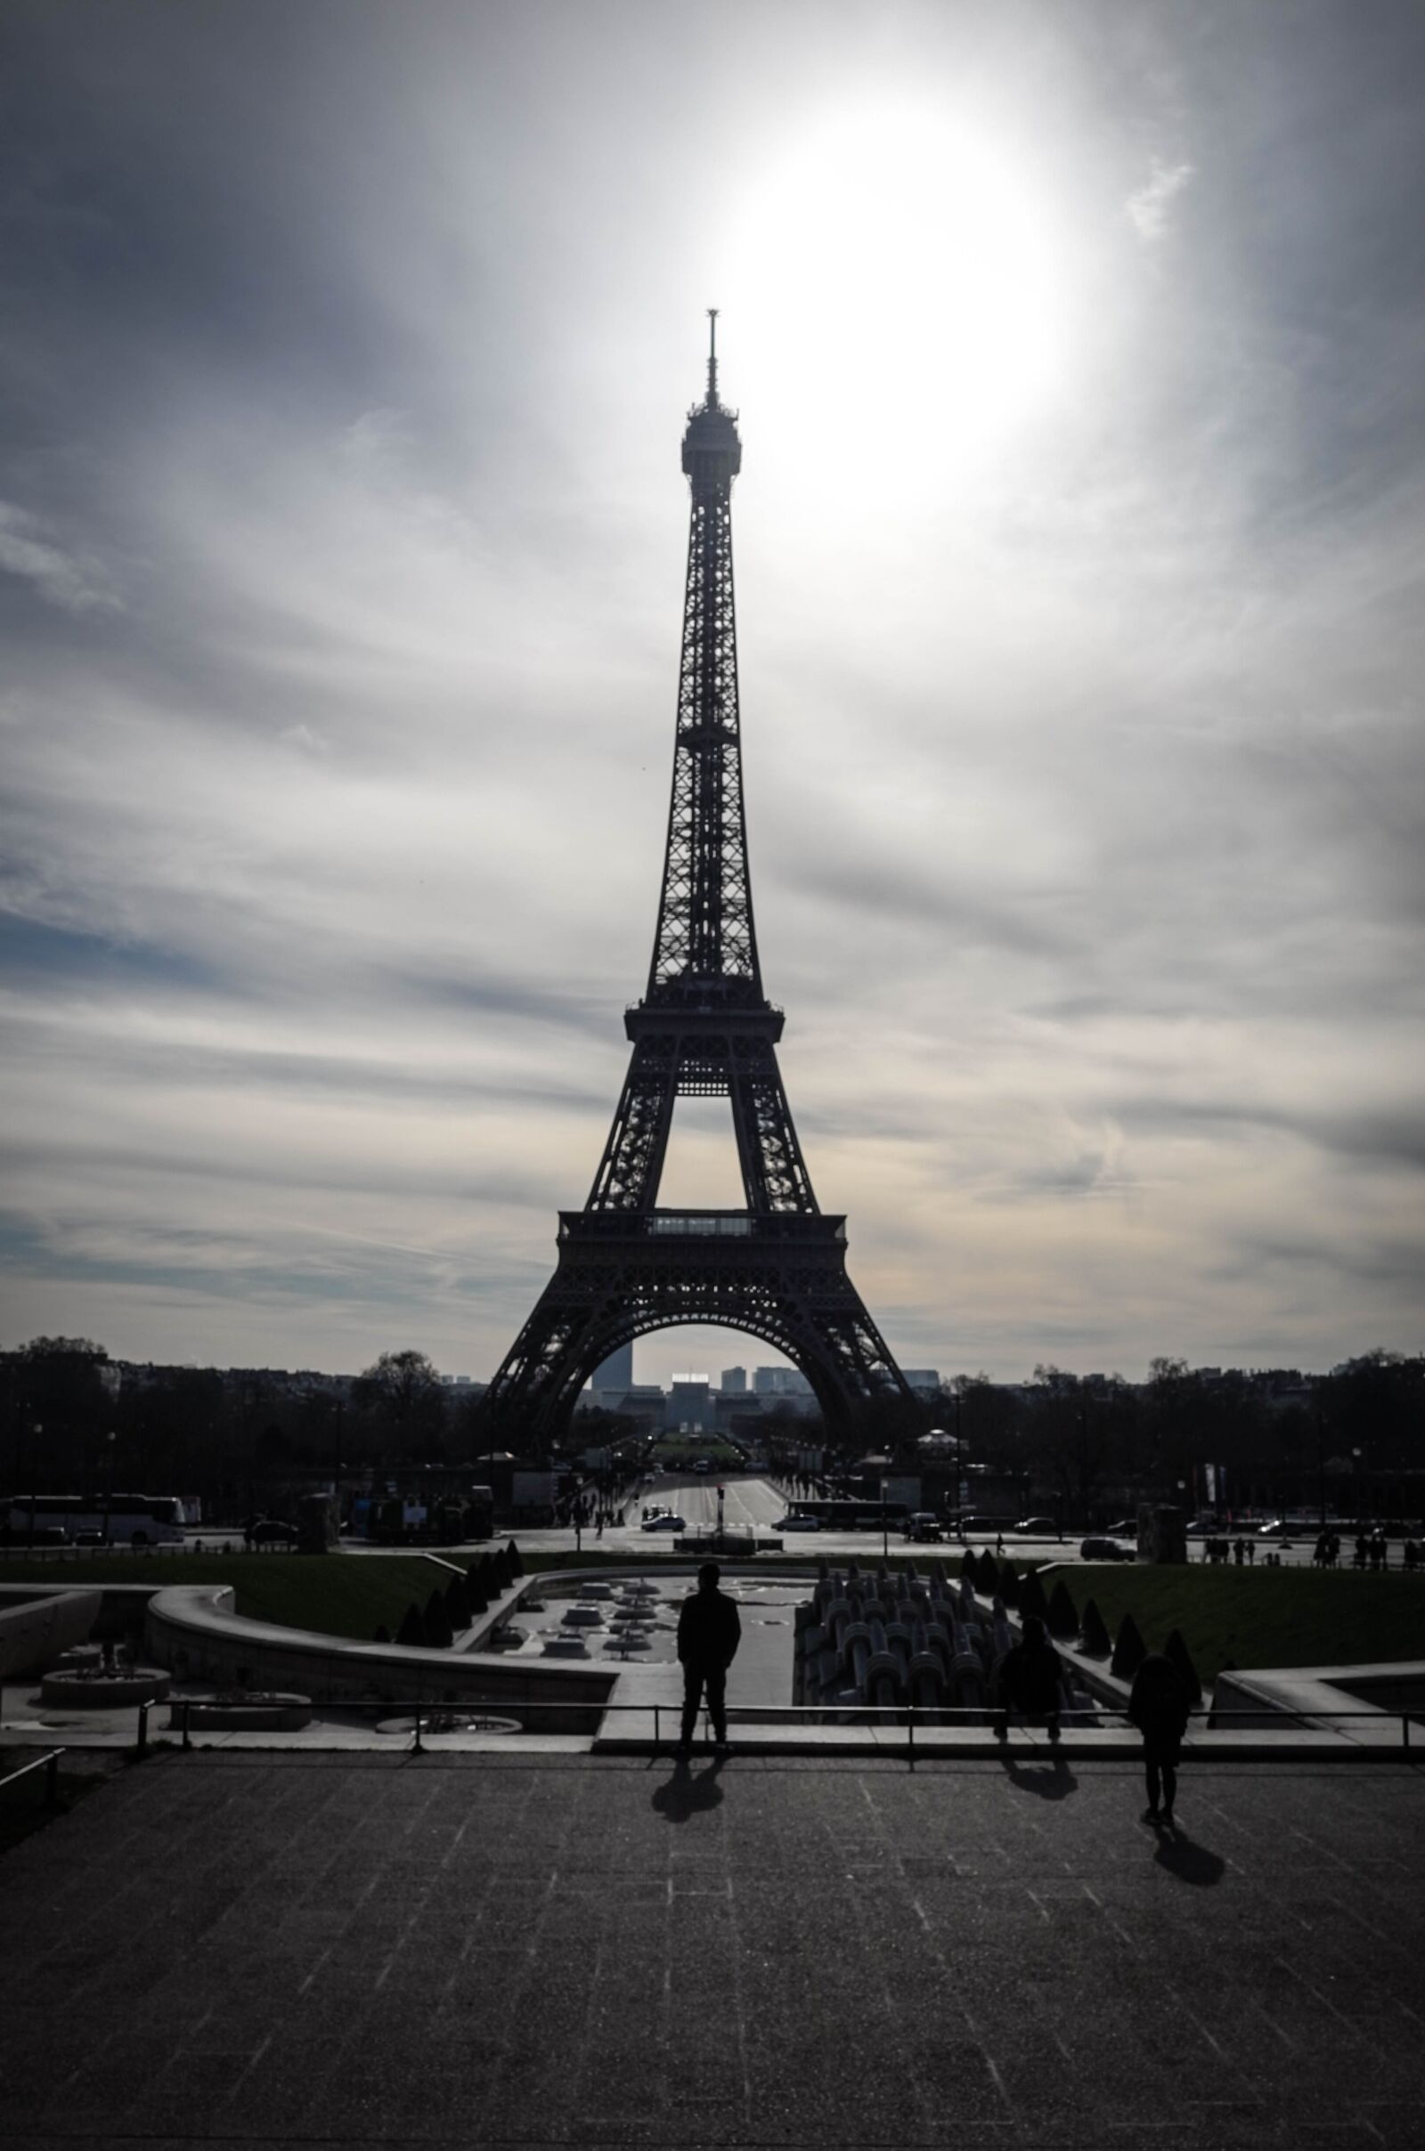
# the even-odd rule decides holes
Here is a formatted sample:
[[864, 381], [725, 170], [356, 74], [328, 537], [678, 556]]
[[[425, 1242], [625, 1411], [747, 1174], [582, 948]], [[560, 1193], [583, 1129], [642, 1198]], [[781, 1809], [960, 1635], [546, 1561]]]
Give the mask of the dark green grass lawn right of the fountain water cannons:
[[1149, 1650], [1182, 1628], [1203, 1684], [1229, 1661], [1266, 1667], [1425, 1658], [1419, 1575], [1063, 1562], [1042, 1570], [1044, 1590], [1059, 1577], [1078, 1615], [1089, 1598], [1098, 1600], [1109, 1635], [1117, 1635], [1124, 1613], [1132, 1613]]

